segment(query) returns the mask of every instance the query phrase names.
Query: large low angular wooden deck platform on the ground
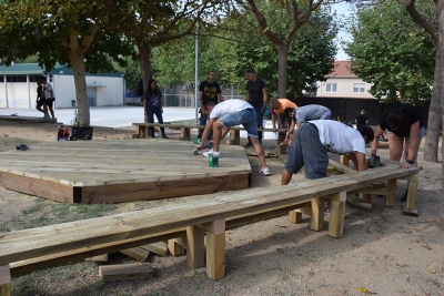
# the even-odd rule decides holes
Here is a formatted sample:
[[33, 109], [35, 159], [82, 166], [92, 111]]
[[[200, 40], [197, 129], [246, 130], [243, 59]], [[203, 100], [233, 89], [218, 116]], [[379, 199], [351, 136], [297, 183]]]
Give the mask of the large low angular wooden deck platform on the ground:
[[140, 139], [68, 141], [0, 153], [0, 186], [68, 203], [119, 203], [248, 188], [241, 146], [219, 167], [192, 155], [192, 142]]

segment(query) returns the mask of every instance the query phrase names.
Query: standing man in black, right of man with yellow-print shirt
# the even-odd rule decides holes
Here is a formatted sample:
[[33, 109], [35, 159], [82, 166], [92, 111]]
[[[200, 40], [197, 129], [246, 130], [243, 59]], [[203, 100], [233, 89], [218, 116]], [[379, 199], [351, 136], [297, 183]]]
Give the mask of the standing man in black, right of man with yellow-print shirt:
[[[249, 102], [256, 113], [258, 127], [262, 127], [263, 124], [263, 112], [265, 111], [268, 94], [265, 82], [256, 76], [256, 71], [253, 68], [249, 68], [245, 71], [246, 82], [246, 102]], [[259, 142], [262, 143], [262, 132], [258, 131]], [[249, 143], [245, 147], [252, 146], [253, 143], [249, 136]]]

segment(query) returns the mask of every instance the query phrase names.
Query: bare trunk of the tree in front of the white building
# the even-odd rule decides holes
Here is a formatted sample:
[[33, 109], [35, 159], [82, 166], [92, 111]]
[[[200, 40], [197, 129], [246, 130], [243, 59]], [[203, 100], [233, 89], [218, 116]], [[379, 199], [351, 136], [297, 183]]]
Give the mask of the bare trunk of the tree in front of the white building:
[[79, 125], [90, 126], [90, 104], [88, 101], [84, 54], [81, 50], [70, 50], [68, 51], [68, 55], [72, 65], [72, 75], [74, 76]]

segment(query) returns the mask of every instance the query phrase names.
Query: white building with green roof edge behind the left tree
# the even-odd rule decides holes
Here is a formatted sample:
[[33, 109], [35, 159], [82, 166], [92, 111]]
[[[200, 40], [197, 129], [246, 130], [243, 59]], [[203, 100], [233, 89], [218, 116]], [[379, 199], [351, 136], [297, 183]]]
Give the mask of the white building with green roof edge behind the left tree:
[[[37, 80], [44, 72], [37, 63], [0, 67], [0, 108], [34, 109]], [[54, 109], [77, 106], [72, 69], [57, 68], [47, 75], [54, 86]], [[122, 72], [87, 73], [88, 100], [91, 106], [123, 105]]]

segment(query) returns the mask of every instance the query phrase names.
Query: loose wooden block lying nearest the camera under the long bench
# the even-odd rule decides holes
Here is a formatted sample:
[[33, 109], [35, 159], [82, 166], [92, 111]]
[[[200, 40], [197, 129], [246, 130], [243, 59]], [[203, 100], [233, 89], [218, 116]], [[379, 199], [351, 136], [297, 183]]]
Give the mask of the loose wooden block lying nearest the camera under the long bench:
[[154, 269], [148, 264], [120, 264], [99, 266], [103, 282], [154, 277]]

